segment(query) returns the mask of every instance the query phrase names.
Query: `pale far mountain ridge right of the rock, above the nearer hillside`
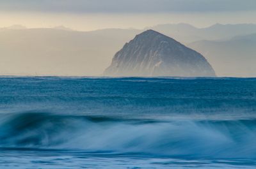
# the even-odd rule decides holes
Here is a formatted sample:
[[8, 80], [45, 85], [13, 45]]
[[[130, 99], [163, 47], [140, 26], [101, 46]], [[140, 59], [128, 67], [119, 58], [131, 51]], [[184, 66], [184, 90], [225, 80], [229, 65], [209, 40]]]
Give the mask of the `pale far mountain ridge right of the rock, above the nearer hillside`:
[[183, 43], [199, 40], [228, 40], [234, 36], [256, 33], [256, 24], [214, 24], [197, 28], [189, 24], [161, 24], [150, 27]]

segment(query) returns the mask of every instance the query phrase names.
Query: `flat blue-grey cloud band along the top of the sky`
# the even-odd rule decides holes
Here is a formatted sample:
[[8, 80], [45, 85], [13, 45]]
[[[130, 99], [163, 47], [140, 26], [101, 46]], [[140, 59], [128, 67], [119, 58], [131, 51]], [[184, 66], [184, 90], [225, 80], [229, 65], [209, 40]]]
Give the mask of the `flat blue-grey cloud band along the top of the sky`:
[[255, 0], [0, 0], [1, 11], [170, 13], [256, 11]]

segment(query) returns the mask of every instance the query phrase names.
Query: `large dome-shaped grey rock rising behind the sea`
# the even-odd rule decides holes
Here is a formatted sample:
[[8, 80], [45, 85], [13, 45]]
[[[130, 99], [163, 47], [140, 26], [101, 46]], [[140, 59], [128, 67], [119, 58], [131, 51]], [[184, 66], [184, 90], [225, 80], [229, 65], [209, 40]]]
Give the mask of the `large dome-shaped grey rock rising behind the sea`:
[[117, 52], [110, 77], [215, 77], [203, 55], [153, 30], [138, 34]]

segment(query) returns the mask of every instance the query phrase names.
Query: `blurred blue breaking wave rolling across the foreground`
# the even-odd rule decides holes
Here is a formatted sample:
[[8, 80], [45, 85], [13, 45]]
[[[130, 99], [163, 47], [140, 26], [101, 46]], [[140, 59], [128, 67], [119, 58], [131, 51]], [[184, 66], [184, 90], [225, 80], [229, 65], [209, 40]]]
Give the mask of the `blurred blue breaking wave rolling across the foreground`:
[[158, 120], [23, 112], [1, 115], [1, 149], [256, 158], [256, 119]]

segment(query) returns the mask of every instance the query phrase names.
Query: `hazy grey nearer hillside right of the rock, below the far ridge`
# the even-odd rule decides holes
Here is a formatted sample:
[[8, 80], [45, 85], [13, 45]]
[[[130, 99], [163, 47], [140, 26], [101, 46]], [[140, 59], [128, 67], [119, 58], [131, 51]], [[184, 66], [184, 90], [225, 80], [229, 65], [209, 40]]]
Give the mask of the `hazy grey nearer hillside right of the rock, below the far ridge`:
[[256, 77], [256, 34], [227, 41], [196, 41], [189, 47], [203, 54], [218, 76]]

